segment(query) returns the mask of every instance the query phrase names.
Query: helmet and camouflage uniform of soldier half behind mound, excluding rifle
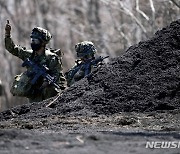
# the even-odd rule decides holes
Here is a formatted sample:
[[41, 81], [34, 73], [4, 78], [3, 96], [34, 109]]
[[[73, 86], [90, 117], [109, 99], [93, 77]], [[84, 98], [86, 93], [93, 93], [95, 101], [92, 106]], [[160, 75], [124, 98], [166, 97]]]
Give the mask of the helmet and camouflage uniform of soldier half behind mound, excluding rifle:
[[[85, 77], [85, 69], [81, 66], [82, 64], [85, 64], [89, 60], [95, 58], [94, 54], [96, 53], [96, 48], [94, 47], [94, 44], [92, 42], [84, 41], [75, 45], [75, 51], [79, 59], [76, 60], [75, 65], [65, 73], [68, 86], [71, 86], [76, 81], [79, 81]], [[97, 66], [95, 65], [91, 65], [90, 72], [92, 72], [92, 70], [96, 67]]]

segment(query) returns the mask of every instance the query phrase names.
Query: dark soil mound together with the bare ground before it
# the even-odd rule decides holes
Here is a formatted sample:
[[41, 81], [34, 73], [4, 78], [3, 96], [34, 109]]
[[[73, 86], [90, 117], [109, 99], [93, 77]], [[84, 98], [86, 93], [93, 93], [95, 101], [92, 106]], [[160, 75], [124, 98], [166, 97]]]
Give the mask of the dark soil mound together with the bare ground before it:
[[0, 153], [178, 154], [180, 20], [49, 100], [0, 113]]

